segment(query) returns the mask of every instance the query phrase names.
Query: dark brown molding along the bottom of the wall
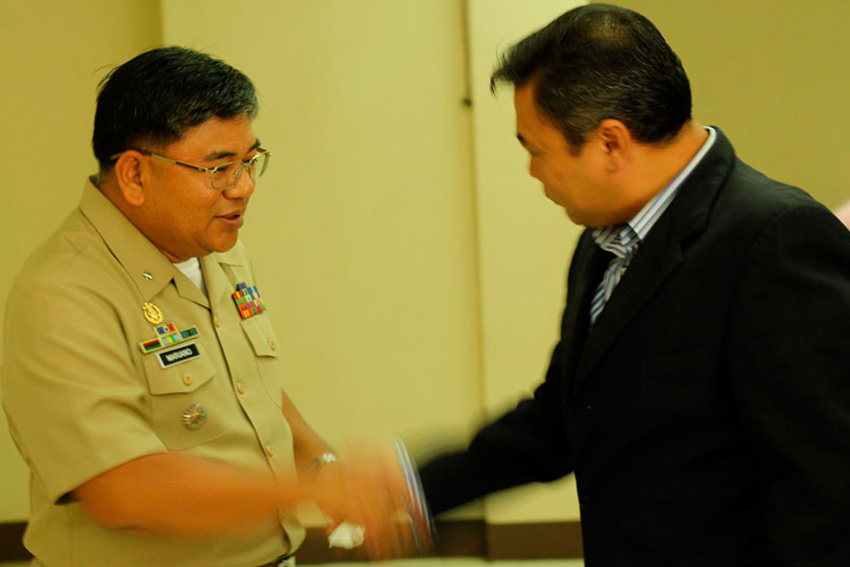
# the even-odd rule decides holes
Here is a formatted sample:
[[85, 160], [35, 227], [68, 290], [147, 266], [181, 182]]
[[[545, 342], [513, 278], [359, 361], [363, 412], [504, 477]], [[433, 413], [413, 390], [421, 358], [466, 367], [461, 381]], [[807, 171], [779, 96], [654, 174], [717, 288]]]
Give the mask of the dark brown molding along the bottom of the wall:
[[[21, 541], [25, 522], [0, 523], [0, 562], [27, 561]], [[582, 556], [578, 521], [533, 524], [487, 524], [484, 520], [437, 522], [438, 542], [433, 557], [483, 557], [498, 559], [564, 559]], [[357, 561], [354, 552], [328, 549], [325, 531], [308, 528], [298, 550], [303, 565]]]

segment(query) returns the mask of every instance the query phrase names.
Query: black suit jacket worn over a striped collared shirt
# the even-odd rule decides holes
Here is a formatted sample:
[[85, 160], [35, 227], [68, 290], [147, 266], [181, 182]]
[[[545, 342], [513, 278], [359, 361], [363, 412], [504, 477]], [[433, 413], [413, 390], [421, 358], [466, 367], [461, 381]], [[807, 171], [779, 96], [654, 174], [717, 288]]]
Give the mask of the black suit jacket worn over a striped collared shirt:
[[607, 262], [585, 231], [544, 383], [432, 511], [574, 471], [588, 567], [850, 566], [850, 233], [718, 130], [589, 329]]

